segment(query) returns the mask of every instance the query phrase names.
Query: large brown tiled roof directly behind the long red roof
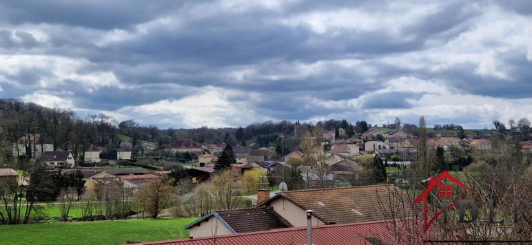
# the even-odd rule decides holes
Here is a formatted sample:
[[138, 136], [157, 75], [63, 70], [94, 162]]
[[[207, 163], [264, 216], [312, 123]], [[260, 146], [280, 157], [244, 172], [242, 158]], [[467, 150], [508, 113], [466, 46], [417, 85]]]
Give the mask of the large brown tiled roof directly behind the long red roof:
[[[394, 193], [404, 198], [406, 193], [393, 184], [329, 189], [286, 191], [259, 205], [267, 205], [277, 198], [285, 198], [303, 210], [314, 210], [314, 216], [326, 224], [347, 224], [387, 220], [390, 204], [400, 205]], [[396, 207], [398, 209], [398, 207]], [[407, 210], [408, 213], [411, 211]]]

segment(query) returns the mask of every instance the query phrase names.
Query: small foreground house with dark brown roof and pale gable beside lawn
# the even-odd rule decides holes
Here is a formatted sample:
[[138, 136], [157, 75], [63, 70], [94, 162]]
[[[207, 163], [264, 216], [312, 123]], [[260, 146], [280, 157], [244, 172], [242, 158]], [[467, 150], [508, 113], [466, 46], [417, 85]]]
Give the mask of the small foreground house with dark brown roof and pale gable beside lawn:
[[190, 231], [190, 238], [198, 238], [287, 227], [291, 225], [283, 217], [272, 209], [262, 207], [214, 211], [188, 224], [185, 229]]

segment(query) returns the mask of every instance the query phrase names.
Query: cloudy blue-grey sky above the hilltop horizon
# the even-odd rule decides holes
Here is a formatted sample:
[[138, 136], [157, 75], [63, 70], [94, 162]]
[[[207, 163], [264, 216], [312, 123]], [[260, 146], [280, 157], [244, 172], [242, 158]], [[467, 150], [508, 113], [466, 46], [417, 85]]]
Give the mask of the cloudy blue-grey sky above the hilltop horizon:
[[532, 2], [4, 0], [0, 97], [163, 128], [490, 127], [532, 118]]

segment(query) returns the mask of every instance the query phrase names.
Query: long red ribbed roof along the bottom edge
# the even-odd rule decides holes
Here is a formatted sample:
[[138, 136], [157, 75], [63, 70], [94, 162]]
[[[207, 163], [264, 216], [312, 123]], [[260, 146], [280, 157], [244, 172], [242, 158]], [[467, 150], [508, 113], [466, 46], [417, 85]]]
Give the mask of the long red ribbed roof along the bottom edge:
[[[413, 224], [398, 224], [398, 239], [400, 239], [400, 244], [422, 243], [422, 237], [420, 236], [407, 237], [407, 229], [408, 227], [412, 227], [412, 225]], [[397, 244], [395, 237], [393, 236], [392, 227], [393, 223], [388, 221], [319, 226], [312, 229], [312, 242], [315, 245], [372, 244], [370, 241], [380, 241], [380, 244]], [[422, 224], [420, 224], [420, 227], [422, 227]], [[280, 228], [270, 231], [218, 235], [216, 239], [205, 237], [161, 242], [145, 242], [141, 244], [212, 245], [214, 244], [214, 241], [216, 241], [217, 245], [307, 244], [307, 227]]]

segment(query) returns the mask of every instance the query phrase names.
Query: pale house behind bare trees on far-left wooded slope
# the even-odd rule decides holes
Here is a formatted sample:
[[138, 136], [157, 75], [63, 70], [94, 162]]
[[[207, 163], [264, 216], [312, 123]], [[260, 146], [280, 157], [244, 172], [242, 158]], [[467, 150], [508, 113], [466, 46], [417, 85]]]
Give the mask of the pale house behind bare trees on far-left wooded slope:
[[54, 145], [41, 134], [25, 134], [12, 145], [13, 156], [30, 154], [32, 158], [40, 158], [45, 151], [54, 151]]

